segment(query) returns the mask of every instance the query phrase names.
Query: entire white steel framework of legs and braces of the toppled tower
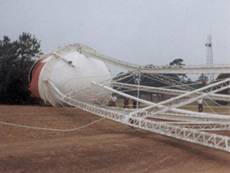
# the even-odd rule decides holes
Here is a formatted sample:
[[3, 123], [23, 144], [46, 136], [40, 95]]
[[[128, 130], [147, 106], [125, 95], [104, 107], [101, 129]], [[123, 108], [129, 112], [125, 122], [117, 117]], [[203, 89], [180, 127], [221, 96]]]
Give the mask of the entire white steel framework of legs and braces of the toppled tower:
[[[100, 59], [106, 63], [111, 63], [113, 65], [120, 66], [131, 71], [136, 71], [138, 73], [158, 75], [175, 73], [230, 73], [230, 65], [145, 67], [121, 61], [106, 55], [102, 55], [96, 50], [81, 44], [70, 45], [67, 48], [75, 49], [85, 56]], [[70, 68], [75, 68], [74, 66], [71, 66], [71, 64], [69, 64], [58, 53], [54, 52], [52, 55], [54, 55], [55, 58], [62, 59], [67, 65], [70, 66]], [[55, 61], [55, 58], [52, 61]], [[50, 65], [50, 68], [47, 69], [51, 70], [52, 66]], [[140, 85], [134, 86], [131, 84], [113, 82], [115, 86], [126, 87], [128, 89], [136, 88], [151, 92], [168, 92], [176, 95], [175, 97], [162, 101], [160, 103], [153, 103], [115, 90], [110, 87], [111, 83], [108, 85], [106, 83], [102, 84], [92, 81], [92, 85], [94, 87], [97, 86], [113, 93], [119, 94], [123, 97], [136, 100], [137, 102], [143, 103], [146, 106], [141, 109], [127, 111], [124, 109], [112, 109], [110, 107], [76, 100], [71, 97], [71, 94], [61, 92], [61, 90], [50, 80], [50, 73], [51, 71], [47, 71], [47, 76], [43, 78], [43, 82], [47, 85], [45, 93], [47, 93], [47, 95], [48, 93], [52, 93], [52, 96], [56, 97], [56, 100], [59, 100], [60, 104], [67, 104], [128, 126], [230, 152], [230, 137], [209, 132], [218, 130], [230, 130], [230, 116], [217, 113], [198, 113], [180, 108], [186, 104], [195, 102], [198, 99], [207, 97], [212, 97], [216, 100], [229, 101], [230, 98], [228, 95], [221, 96], [220, 94], [216, 93], [230, 88], [230, 78], [218, 81], [216, 83], [212, 83], [210, 85], [192, 91], [171, 89], [169, 90], [163, 88], [147, 87]], [[126, 77], [127, 76], [120, 76], [118, 78], [118, 81]], [[162, 80], [162, 78], [160, 78], [159, 80]], [[164, 78], [163, 80], [166, 81], [167, 79]], [[170, 84], [175, 83], [176, 85], [178, 85], [178, 82], [175, 82], [174, 80], [170, 80], [168, 82]]]

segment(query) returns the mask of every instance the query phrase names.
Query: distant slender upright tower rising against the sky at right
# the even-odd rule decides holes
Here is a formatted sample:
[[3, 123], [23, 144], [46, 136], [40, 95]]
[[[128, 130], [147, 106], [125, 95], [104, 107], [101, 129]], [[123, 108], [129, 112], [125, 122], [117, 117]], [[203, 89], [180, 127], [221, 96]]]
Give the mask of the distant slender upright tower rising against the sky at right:
[[[206, 51], [207, 51], [207, 57], [206, 57], [206, 64], [207, 65], [213, 65], [213, 51], [212, 51], [212, 36], [208, 35], [207, 42], [205, 43]], [[214, 80], [214, 74], [208, 75], [209, 81]]]

